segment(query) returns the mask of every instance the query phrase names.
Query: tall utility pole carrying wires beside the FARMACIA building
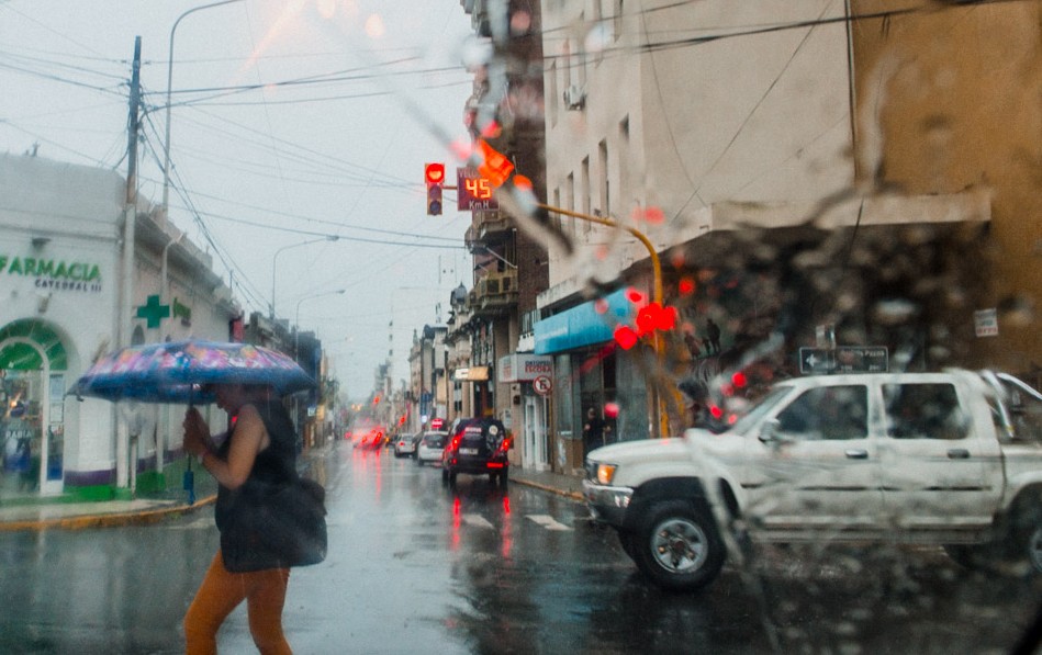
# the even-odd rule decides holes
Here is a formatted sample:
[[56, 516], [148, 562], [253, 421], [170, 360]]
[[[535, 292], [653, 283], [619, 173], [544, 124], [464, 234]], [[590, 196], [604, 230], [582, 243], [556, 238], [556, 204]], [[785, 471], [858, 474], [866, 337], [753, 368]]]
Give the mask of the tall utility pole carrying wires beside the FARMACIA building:
[[[142, 37], [134, 38], [134, 65], [131, 74], [131, 108], [126, 124], [126, 200], [123, 204], [123, 284], [120, 289], [119, 316], [116, 316], [117, 346], [131, 345], [131, 315], [134, 305], [134, 237], [137, 227], [137, 133], [141, 128], [141, 66]], [[137, 453], [131, 448], [128, 421], [120, 420], [113, 405], [112, 421], [116, 428], [115, 477], [116, 487], [134, 493], [132, 475], [137, 465], [132, 459]]]

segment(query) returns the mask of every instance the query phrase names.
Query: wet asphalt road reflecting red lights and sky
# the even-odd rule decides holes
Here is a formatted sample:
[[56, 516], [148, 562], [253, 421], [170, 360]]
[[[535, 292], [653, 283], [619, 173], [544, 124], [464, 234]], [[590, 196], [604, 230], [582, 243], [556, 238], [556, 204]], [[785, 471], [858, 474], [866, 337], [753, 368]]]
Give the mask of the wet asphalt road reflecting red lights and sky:
[[[647, 585], [569, 499], [345, 444], [329, 555], [294, 569], [301, 654], [1006, 653], [1042, 584], [967, 574], [935, 549], [762, 547], [708, 589]], [[217, 545], [212, 510], [148, 527], [0, 534], [0, 652], [179, 653]], [[245, 608], [220, 637], [255, 652]]]

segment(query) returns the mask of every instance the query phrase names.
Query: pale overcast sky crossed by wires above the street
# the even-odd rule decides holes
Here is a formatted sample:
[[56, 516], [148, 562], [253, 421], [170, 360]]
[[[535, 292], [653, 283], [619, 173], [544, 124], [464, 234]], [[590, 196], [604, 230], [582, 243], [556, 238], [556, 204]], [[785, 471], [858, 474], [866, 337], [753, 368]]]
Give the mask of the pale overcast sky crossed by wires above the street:
[[[0, 0], [0, 151], [126, 176], [141, 36], [139, 193], [161, 203], [170, 31], [209, 3]], [[467, 140], [470, 36], [459, 0], [237, 0], [176, 31], [170, 218], [247, 312], [267, 312], [277, 268], [277, 313], [300, 312], [352, 395], [388, 355], [392, 312], [405, 377], [413, 329], [471, 286], [470, 215], [447, 195], [427, 216], [423, 185], [424, 162], [451, 167]]]

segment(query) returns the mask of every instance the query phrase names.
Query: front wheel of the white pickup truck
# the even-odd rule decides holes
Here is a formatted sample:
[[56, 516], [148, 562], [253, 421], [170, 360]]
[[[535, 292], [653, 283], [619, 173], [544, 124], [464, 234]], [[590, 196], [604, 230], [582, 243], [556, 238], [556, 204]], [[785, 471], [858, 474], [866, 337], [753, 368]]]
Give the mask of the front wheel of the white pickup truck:
[[709, 511], [683, 500], [652, 505], [634, 533], [632, 550], [641, 573], [675, 591], [693, 591], [712, 583], [726, 555]]

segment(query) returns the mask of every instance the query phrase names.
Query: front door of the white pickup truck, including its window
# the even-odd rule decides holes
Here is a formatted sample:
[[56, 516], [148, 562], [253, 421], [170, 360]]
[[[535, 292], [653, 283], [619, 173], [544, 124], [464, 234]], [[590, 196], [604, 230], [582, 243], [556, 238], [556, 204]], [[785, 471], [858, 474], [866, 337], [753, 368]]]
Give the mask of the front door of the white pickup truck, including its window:
[[747, 515], [768, 530], [879, 528], [879, 463], [864, 384], [803, 389], [747, 439]]

